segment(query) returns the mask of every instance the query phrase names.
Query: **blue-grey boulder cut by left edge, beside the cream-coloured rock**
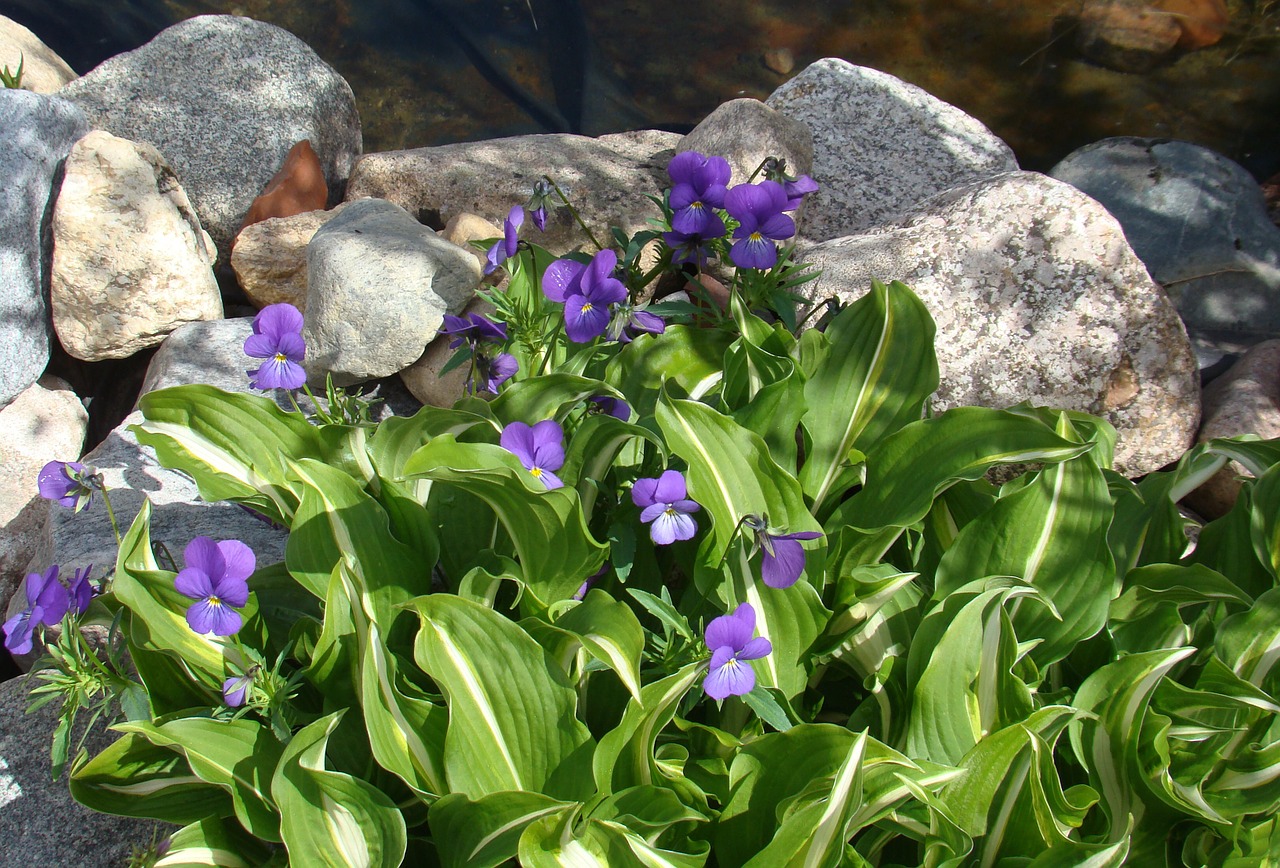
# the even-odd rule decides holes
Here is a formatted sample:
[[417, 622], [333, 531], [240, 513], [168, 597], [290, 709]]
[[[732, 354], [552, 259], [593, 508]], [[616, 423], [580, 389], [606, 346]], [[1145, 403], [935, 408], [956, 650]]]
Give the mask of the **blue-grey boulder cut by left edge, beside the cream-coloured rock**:
[[0, 88], [0, 407], [49, 364], [49, 214], [63, 160], [88, 132], [55, 96]]

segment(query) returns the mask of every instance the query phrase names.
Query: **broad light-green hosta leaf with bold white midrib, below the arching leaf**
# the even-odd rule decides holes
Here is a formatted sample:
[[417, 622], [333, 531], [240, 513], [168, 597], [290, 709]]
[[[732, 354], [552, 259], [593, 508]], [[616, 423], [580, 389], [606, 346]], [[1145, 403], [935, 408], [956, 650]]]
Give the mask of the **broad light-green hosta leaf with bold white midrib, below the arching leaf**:
[[449, 791], [589, 795], [595, 745], [575, 717], [577, 694], [541, 647], [479, 603], [433, 594], [411, 608], [421, 618], [413, 659], [449, 707]]

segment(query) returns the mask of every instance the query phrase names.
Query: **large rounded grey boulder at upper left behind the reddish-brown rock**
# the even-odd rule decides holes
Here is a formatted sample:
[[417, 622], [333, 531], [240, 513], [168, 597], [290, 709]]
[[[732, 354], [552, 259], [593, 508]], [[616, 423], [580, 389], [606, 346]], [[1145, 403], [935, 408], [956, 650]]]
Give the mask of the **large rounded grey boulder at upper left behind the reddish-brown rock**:
[[218, 245], [219, 260], [289, 149], [311, 140], [330, 191], [361, 152], [351, 87], [274, 24], [200, 15], [61, 90], [93, 127], [154, 145]]

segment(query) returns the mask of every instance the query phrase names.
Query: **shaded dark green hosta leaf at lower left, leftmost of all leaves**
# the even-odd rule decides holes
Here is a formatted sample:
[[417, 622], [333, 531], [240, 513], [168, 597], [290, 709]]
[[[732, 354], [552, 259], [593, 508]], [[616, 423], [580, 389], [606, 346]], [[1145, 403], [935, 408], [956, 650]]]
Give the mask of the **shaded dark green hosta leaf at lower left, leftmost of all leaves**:
[[125, 732], [70, 777], [78, 803], [104, 814], [193, 823], [232, 814], [230, 792], [206, 782], [178, 751]]

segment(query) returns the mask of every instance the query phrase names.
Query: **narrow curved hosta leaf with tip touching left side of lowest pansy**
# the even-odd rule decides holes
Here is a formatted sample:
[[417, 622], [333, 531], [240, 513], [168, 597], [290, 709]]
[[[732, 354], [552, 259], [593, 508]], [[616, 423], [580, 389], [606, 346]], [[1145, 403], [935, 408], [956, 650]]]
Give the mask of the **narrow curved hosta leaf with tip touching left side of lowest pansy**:
[[640, 702], [627, 702], [622, 719], [595, 748], [591, 768], [599, 792], [608, 795], [664, 781], [654, 759], [658, 734], [671, 722], [680, 700], [699, 682], [704, 672], [705, 663], [690, 663], [673, 675], [641, 687]]

